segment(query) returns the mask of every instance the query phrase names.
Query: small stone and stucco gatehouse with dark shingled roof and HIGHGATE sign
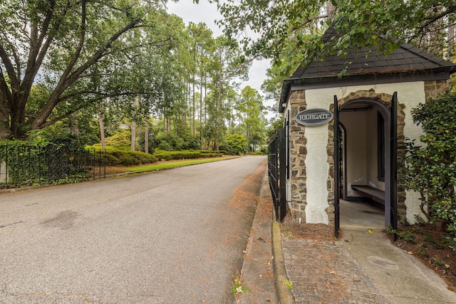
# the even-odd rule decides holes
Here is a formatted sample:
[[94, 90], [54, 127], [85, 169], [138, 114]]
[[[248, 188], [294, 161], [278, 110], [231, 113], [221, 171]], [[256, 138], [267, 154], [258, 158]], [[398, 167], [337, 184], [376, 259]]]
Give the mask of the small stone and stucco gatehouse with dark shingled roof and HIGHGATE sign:
[[[411, 111], [449, 90], [456, 64], [410, 44], [389, 56], [373, 50], [366, 57], [368, 51], [313, 61], [284, 80], [279, 110], [286, 134], [286, 203], [295, 221], [338, 229], [339, 199], [383, 204], [386, 225], [413, 223], [421, 215], [418, 194], [398, 184], [396, 169], [405, 138], [422, 134]], [[312, 113], [331, 119], [306, 121], [326, 117]]]

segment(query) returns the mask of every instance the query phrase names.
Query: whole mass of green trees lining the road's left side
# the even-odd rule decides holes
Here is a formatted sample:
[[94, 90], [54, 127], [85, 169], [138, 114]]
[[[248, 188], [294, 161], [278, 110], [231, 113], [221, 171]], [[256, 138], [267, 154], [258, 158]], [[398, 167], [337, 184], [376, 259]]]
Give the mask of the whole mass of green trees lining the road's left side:
[[0, 140], [92, 127], [88, 144], [99, 131], [103, 146], [129, 128], [133, 150], [161, 132], [218, 149], [249, 61], [237, 41], [185, 26], [166, 3], [0, 1]]

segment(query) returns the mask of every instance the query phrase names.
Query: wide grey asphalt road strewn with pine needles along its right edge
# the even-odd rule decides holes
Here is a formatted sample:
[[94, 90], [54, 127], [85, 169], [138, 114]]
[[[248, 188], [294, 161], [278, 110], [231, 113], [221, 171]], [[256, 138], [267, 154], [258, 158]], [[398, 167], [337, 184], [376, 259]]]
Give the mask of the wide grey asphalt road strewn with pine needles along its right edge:
[[232, 303], [266, 157], [0, 195], [0, 303]]

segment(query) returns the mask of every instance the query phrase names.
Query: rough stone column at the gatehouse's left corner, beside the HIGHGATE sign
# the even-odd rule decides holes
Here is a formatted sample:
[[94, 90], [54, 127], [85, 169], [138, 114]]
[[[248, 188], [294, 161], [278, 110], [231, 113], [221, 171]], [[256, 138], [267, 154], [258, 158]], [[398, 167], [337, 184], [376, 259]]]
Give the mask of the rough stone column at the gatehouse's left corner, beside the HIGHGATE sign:
[[306, 219], [306, 127], [296, 122], [296, 115], [306, 110], [306, 92], [293, 91], [289, 100], [291, 106], [289, 147], [291, 154], [291, 218], [294, 221]]

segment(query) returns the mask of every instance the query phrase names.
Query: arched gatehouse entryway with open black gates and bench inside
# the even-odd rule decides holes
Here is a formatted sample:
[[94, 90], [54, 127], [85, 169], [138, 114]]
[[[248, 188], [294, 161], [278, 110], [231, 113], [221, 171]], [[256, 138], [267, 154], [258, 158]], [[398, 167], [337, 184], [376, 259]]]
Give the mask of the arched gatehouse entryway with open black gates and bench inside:
[[[392, 106], [393, 105], [393, 106]], [[385, 226], [397, 226], [395, 94], [377, 94], [373, 90], [335, 97], [335, 212], [336, 229], [344, 219], [344, 201], [371, 201], [383, 206]], [[336, 230], [338, 231], [338, 230]]]

